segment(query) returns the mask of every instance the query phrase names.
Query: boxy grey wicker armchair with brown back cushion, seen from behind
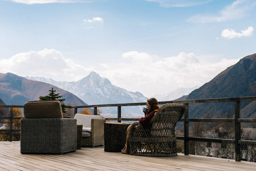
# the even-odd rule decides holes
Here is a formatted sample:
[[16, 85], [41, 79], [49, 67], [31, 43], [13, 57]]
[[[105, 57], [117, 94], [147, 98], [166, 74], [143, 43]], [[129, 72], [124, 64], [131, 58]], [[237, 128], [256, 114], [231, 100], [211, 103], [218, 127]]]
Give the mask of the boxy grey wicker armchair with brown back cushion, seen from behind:
[[63, 118], [58, 100], [29, 101], [21, 119], [21, 153], [64, 154], [77, 146], [76, 119]]

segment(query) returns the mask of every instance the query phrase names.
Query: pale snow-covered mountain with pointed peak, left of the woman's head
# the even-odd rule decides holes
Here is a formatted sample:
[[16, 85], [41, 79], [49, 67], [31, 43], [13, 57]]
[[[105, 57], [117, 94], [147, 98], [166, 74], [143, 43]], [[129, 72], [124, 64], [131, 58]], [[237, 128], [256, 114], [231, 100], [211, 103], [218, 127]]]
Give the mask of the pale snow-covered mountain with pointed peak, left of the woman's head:
[[[52, 79], [39, 77], [26, 77], [32, 80], [50, 83], [68, 92], [74, 93], [86, 103], [93, 104], [113, 104], [113, 103], [137, 103], [146, 102], [147, 97], [140, 92], [131, 92], [123, 88], [116, 87], [106, 78], [101, 78], [96, 72], [79, 80], [78, 82], [56, 82]], [[142, 107], [123, 107], [122, 113], [141, 114]], [[115, 108], [104, 108], [104, 112], [116, 113]], [[142, 115], [142, 114], [141, 114]]]

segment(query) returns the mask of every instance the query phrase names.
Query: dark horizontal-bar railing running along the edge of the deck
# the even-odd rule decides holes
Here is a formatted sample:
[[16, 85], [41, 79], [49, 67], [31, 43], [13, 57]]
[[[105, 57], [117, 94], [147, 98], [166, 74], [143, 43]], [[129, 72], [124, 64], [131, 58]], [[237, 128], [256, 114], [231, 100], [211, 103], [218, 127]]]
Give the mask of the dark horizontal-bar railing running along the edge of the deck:
[[[185, 155], [189, 154], [189, 141], [205, 141], [212, 143], [230, 143], [235, 144], [235, 161], [241, 161], [241, 145], [256, 145], [256, 141], [241, 140], [241, 123], [256, 123], [256, 119], [241, 119], [241, 101], [256, 101], [256, 96], [253, 97], [231, 97], [231, 98], [218, 98], [218, 99], [198, 99], [198, 100], [174, 100], [174, 101], [160, 101], [159, 104], [166, 103], [181, 103], [185, 104], [186, 112], [184, 113], [184, 118], [181, 119], [181, 122], [184, 123], [184, 136], [177, 136], [178, 140], [184, 140], [184, 153]], [[221, 103], [221, 102], [234, 102], [234, 118], [189, 118], [189, 104], [197, 103]], [[121, 117], [121, 107], [128, 106], [140, 106], [146, 105], [146, 103], [120, 103], [120, 104], [99, 104], [99, 105], [79, 105], [71, 106], [67, 108], [74, 108], [74, 114], [78, 112], [78, 108], [94, 108], [94, 115], [97, 115], [97, 108], [104, 107], [117, 107], [117, 117], [115, 118], [106, 118], [106, 120], [115, 120], [117, 122], [121, 121], [137, 121], [139, 118], [122, 118]], [[10, 108], [10, 117], [0, 117], [0, 119], [9, 119], [10, 120], [10, 129], [0, 129], [0, 132], [9, 132], [10, 141], [12, 141], [12, 133], [14, 131], [20, 131], [20, 129], [12, 129], [12, 123], [14, 119], [21, 119], [20, 117], [13, 117], [13, 108], [23, 108], [23, 105], [1, 105], [3, 108]], [[194, 122], [215, 122], [215, 123], [234, 123], [235, 127], [235, 139], [212, 139], [206, 137], [190, 137], [189, 136], [189, 123]]]

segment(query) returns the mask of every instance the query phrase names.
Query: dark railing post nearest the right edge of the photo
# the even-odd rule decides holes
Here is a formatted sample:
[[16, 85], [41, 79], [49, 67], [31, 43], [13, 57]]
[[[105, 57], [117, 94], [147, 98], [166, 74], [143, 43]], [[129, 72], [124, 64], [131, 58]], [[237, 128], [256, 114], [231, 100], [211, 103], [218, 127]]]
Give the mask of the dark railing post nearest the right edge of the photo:
[[241, 161], [241, 144], [238, 144], [238, 141], [241, 140], [241, 123], [238, 123], [240, 117], [240, 101], [235, 101], [235, 161]]

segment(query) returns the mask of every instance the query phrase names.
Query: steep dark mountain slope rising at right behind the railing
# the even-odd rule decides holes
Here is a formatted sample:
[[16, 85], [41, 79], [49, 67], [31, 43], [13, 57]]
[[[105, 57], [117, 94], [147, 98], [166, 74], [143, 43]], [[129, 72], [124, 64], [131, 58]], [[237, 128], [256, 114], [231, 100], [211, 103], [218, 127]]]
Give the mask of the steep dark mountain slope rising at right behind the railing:
[[[256, 96], [256, 54], [242, 58], [237, 64], [228, 67], [210, 82], [191, 92], [186, 99], [245, 96]], [[255, 101], [242, 102], [241, 109], [241, 117], [256, 117]], [[189, 117], [201, 117], [207, 112], [210, 112], [212, 116], [223, 116], [227, 113], [233, 115], [234, 103], [196, 104], [189, 107]]]

